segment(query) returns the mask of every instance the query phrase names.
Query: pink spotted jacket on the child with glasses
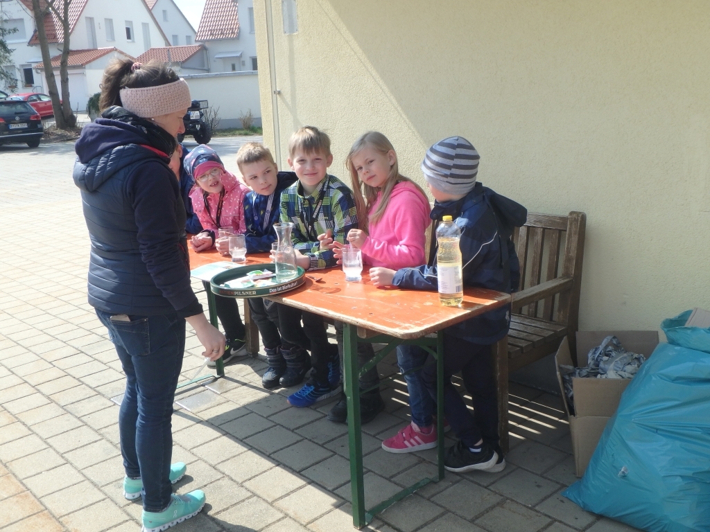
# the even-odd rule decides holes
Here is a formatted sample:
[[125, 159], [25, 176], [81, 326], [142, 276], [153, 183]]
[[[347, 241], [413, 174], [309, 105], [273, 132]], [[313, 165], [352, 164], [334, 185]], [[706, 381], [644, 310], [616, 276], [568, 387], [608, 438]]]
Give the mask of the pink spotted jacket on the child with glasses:
[[215, 236], [217, 236], [217, 229], [230, 226], [238, 234], [246, 233], [244, 196], [249, 192], [249, 189], [244, 184], [241, 184], [239, 179], [236, 179], [233, 174], [226, 171], [222, 174], [222, 185], [224, 185], [224, 201], [222, 202], [222, 216], [219, 218], [219, 226], [217, 226], [219, 194], [209, 194], [207, 196], [207, 204], [209, 204], [209, 212], [207, 212], [207, 209], [204, 208], [204, 190], [198, 184], [195, 184], [195, 187], [190, 191], [192, 209], [195, 210], [197, 218], [200, 218], [202, 229], [204, 231], [214, 231]]

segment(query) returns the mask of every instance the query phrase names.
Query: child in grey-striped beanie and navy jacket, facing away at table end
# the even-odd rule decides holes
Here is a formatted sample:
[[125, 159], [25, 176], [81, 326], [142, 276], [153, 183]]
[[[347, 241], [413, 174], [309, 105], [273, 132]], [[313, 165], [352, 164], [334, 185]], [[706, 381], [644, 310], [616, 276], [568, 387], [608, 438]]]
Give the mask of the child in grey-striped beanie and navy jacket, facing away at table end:
[[[514, 227], [525, 223], [527, 211], [476, 182], [479, 159], [476, 148], [462, 137], [445, 138], [427, 150], [422, 172], [436, 200], [430, 216], [434, 220], [452, 216], [461, 229], [459, 245], [466, 286], [513, 292], [518, 289], [520, 265], [510, 235]], [[436, 260], [432, 265], [397, 272], [373, 268], [370, 275], [376, 284], [438, 289]], [[506, 467], [499, 445], [491, 346], [506, 336], [509, 326], [510, 306], [505, 306], [444, 329], [444, 411], [459, 438], [444, 455], [444, 467], [449, 471], [498, 472]], [[417, 367], [427, 355], [423, 350], [412, 350], [412, 357], [418, 359], [412, 361], [412, 367]], [[452, 375], [459, 371], [473, 399], [473, 414], [451, 382]], [[403, 428], [383, 441], [384, 450], [406, 453], [435, 445], [436, 428], [431, 423], [436, 397], [435, 367], [426, 367], [419, 379], [420, 386], [410, 386], [408, 382], [410, 403], [420, 401], [430, 423]]]

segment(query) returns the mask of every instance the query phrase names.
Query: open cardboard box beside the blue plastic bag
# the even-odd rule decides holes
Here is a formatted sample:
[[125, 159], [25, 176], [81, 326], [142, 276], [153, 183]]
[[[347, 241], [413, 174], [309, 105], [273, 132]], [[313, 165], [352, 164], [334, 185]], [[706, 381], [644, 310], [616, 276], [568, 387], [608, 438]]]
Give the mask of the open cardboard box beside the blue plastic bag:
[[574, 450], [574, 465], [577, 470], [577, 477], [584, 475], [584, 470], [589, 465], [589, 460], [591, 455], [594, 454], [596, 444], [599, 443], [599, 438], [601, 438], [601, 433], [606, 427], [606, 422], [609, 421], [611, 416], [616, 414], [619, 401], [621, 401], [621, 394], [623, 394], [631, 379], [575, 377], [572, 379], [572, 390], [574, 392], [576, 414], [571, 416], [567, 405], [567, 395], [564, 394], [564, 384], [562, 383], [559, 366], [573, 366], [573, 359], [578, 361], [578, 367], [586, 366], [586, 357], [589, 350], [601, 344], [606, 336], [612, 335], [619, 339], [624, 349], [632, 353], [645, 355], [646, 358], [650, 357], [656, 345], [658, 345], [657, 331], [578, 331], [576, 356], [573, 358], [572, 353], [569, 352], [567, 336], [563, 338], [555, 355], [557, 382], [559, 382], [559, 390], [562, 392], [563, 398], [562, 402], [569, 419], [569, 432], [572, 436], [572, 449]]

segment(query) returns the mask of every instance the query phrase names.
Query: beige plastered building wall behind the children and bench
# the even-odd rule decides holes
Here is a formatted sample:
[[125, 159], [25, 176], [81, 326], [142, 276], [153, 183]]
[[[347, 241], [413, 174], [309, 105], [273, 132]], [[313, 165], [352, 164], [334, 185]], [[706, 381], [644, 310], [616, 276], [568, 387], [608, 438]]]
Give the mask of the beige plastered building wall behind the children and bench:
[[[287, 0], [287, 2], [290, 0]], [[324, 128], [332, 172], [368, 129], [421, 181], [463, 135], [529, 211], [586, 212], [580, 328], [710, 309], [710, 4], [255, 0], [266, 143]], [[273, 94], [274, 90], [280, 94]]]

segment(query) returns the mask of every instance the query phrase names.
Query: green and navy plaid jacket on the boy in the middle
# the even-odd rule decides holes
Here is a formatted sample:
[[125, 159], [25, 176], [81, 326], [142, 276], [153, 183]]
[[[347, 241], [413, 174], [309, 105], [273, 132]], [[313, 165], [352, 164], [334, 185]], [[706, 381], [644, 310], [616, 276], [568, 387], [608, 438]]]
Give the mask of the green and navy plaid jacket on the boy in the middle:
[[[324, 188], [325, 187], [325, 188]], [[315, 226], [309, 235], [305, 221], [310, 221], [321, 191], [323, 201], [318, 210]], [[357, 228], [357, 211], [351, 190], [334, 175], [326, 175], [310, 196], [303, 196], [300, 182], [295, 182], [281, 194], [281, 221], [294, 224], [293, 247], [310, 257], [310, 270], [322, 270], [335, 266], [337, 260], [332, 251], [321, 251], [314, 235], [321, 235], [327, 229], [333, 239], [346, 243], [348, 231]]]

